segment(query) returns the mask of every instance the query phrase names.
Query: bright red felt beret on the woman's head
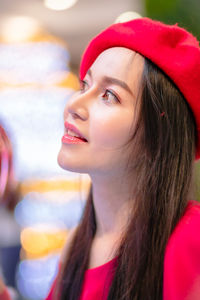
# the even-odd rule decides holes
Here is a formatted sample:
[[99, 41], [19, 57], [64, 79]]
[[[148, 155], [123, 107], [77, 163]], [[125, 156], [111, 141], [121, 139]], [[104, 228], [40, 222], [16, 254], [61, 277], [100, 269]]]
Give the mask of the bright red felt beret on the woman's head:
[[198, 136], [196, 158], [200, 158], [200, 47], [197, 39], [177, 25], [149, 18], [113, 24], [89, 43], [82, 56], [80, 78], [85, 77], [101, 52], [112, 47], [140, 53], [172, 79], [194, 114]]

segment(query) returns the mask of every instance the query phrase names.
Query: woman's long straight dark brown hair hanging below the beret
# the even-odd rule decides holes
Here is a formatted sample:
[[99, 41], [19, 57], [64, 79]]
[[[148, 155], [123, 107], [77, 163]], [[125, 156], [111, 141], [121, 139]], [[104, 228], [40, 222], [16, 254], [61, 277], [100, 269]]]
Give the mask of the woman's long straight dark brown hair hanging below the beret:
[[[119, 248], [108, 300], [160, 300], [167, 241], [187, 205], [195, 155], [195, 122], [183, 95], [145, 58], [135, 125], [132, 219]], [[61, 299], [78, 300], [96, 231], [92, 189], [68, 253]]]

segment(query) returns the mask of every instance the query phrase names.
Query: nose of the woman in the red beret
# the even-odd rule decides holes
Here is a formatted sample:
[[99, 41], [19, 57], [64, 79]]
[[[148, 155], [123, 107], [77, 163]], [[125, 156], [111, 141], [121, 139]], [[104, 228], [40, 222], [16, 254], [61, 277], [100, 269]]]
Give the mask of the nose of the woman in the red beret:
[[85, 98], [80, 93], [73, 95], [65, 107], [64, 116], [70, 114], [74, 119], [87, 120], [89, 112]]

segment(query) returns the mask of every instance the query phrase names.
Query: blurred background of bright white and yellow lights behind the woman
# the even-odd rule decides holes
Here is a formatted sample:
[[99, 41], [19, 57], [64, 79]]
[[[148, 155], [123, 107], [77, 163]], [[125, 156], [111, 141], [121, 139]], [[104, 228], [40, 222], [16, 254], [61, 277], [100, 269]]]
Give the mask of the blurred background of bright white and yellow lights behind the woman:
[[[119, 16], [137, 14], [178, 23], [200, 39], [199, 0], [0, 2], [0, 274], [13, 299], [46, 297], [87, 197], [88, 176], [57, 165], [81, 54]], [[196, 163], [198, 200], [199, 176]]]

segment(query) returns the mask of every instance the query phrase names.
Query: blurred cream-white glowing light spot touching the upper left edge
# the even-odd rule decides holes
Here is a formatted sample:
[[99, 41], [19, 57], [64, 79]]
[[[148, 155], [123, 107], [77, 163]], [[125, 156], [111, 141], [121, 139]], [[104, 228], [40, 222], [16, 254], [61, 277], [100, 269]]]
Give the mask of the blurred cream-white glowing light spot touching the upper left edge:
[[39, 30], [36, 20], [24, 16], [6, 18], [0, 29], [3, 41], [8, 43], [29, 40]]

